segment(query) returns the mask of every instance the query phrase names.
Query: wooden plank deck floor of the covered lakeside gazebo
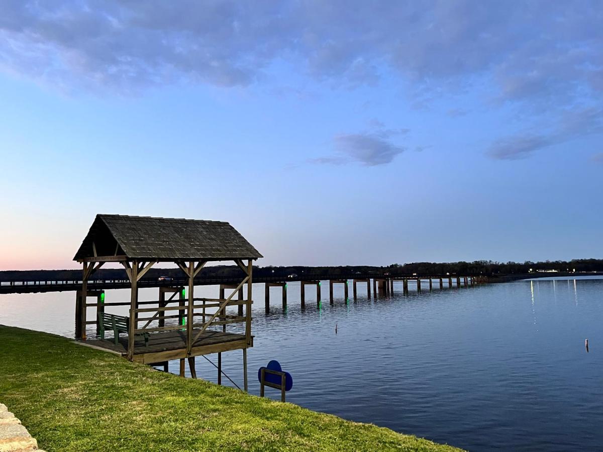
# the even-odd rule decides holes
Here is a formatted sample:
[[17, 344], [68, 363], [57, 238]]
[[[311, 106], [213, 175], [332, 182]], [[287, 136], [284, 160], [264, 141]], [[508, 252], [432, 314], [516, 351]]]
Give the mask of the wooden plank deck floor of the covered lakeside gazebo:
[[[198, 331], [200, 330], [194, 330], [193, 337], [195, 337]], [[115, 344], [113, 337], [89, 339], [87, 341], [78, 341], [78, 343], [103, 348], [113, 353], [121, 353], [124, 356], [128, 352], [128, 336], [125, 334], [119, 337], [119, 344]], [[239, 350], [248, 347], [253, 347], [253, 336], [251, 337], [251, 344], [247, 344], [245, 334], [206, 330], [192, 345], [190, 356]], [[159, 333], [151, 333], [149, 334], [147, 347], [145, 347], [142, 337], [136, 337], [133, 359], [135, 362], [151, 364], [185, 357], [187, 357], [186, 331], [160, 331]]]

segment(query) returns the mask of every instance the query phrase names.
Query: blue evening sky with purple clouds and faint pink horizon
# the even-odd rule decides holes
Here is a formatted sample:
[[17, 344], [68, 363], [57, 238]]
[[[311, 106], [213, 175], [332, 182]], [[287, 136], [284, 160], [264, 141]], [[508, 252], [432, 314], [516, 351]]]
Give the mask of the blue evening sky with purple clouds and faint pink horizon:
[[96, 213], [258, 265], [603, 258], [593, 1], [0, 0], [0, 269]]

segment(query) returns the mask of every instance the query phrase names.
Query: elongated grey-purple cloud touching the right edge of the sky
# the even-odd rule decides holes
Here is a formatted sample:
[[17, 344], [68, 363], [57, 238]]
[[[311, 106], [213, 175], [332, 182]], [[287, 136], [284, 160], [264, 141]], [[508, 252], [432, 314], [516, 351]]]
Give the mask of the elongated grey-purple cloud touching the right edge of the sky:
[[513, 136], [496, 140], [487, 154], [493, 159], [519, 160], [525, 159], [535, 151], [552, 145], [565, 143], [579, 136], [603, 132], [603, 109], [584, 108], [568, 111], [554, 130], [548, 133], [526, 131]]

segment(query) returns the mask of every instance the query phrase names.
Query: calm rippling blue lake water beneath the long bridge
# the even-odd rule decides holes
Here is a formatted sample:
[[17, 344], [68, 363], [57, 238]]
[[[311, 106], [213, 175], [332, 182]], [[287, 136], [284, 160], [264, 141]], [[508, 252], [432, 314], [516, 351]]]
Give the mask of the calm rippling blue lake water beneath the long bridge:
[[[323, 284], [320, 310], [308, 287], [301, 310], [299, 284], [289, 283], [288, 310], [275, 288], [269, 315], [264, 289], [255, 286], [250, 392], [259, 394], [257, 368], [277, 359], [294, 378], [287, 400], [310, 409], [469, 450], [601, 449], [603, 280], [432, 293], [423, 283], [423, 293], [411, 286], [408, 296], [398, 284], [390, 298], [349, 303], [336, 286], [333, 305]], [[218, 288], [198, 287], [195, 295], [216, 297]], [[0, 324], [72, 336], [74, 299], [74, 292], [0, 295]], [[145, 299], [156, 300], [157, 289], [140, 290]], [[128, 300], [125, 290], [107, 291], [107, 302]], [[242, 386], [241, 351], [224, 353], [223, 362]], [[197, 372], [216, 380], [202, 358]]]

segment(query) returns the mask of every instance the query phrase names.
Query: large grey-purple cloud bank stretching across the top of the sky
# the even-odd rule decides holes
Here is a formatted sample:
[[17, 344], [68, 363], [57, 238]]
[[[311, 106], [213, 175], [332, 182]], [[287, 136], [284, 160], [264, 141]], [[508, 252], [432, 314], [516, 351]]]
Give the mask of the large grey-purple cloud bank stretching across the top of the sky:
[[334, 86], [385, 72], [437, 92], [487, 80], [500, 101], [603, 90], [599, 0], [0, 0], [0, 69], [59, 87], [248, 86], [271, 64]]

